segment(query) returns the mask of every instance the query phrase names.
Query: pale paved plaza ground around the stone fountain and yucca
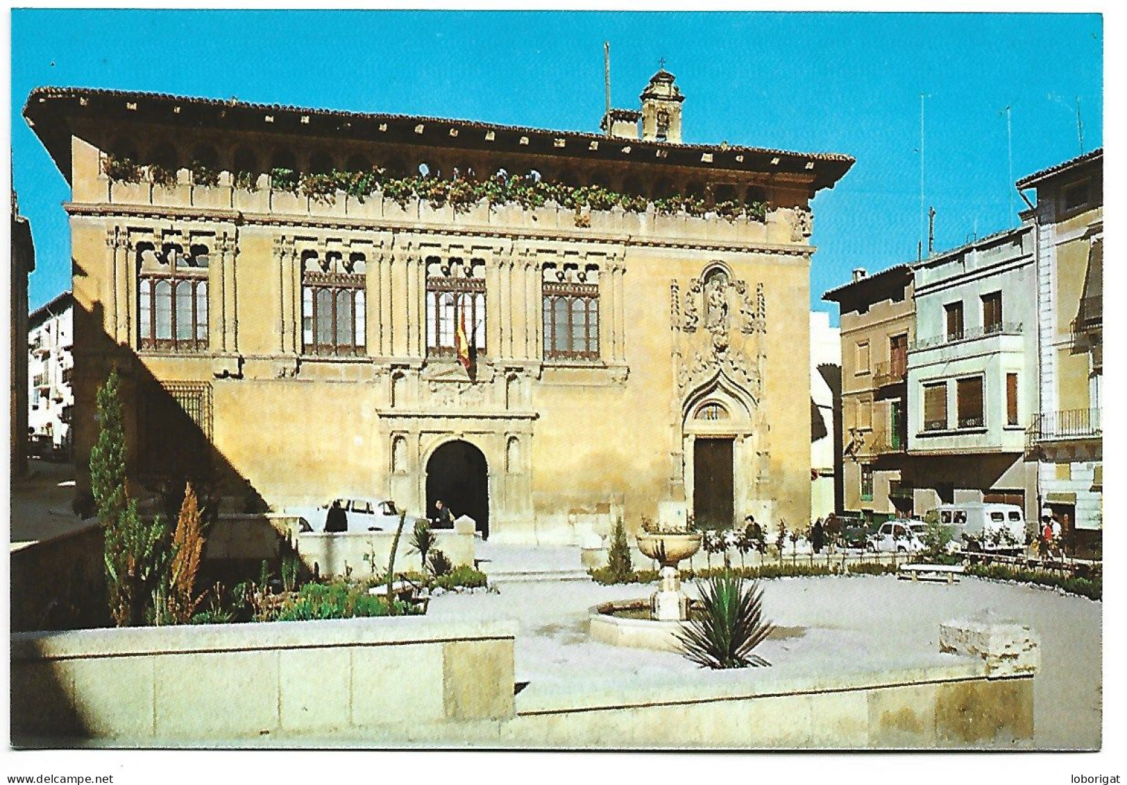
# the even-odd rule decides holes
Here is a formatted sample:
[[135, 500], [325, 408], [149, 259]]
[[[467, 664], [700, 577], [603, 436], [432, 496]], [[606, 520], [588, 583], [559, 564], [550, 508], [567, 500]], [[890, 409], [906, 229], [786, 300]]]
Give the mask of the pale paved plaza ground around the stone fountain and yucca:
[[[486, 547], [506, 571], [523, 558], [513, 550]], [[553, 565], [570, 550], [552, 552]], [[489, 563], [482, 565], [487, 571]], [[1094, 749], [1100, 746], [1102, 603], [1028, 585], [974, 577], [947, 585], [912, 583], [895, 576], [804, 577], [764, 581], [764, 615], [780, 635], [758, 650], [771, 669], [704, 671], [678, 654], [623, 649], [589, 641], [589, 609], [610, 600], [648, 597], [651, 586], [602, 586], [589, 581], [500, 583], [497, 593], [446, 594], [432, 600], [428, 615], [516, 619], [516, 680], [527, 682], [517, 696], [567, 689], [624, 688], [631, 682], [685, 679], [778, 678], [798, 673], [840, 673], [912, 668], [942, 662], [939, 625], [986, 614], [996, 620], [1028, 624], [1040, 636], [1041, 668], [1035, 680], [1033, 746], [1040, 749]], [[686, 583], [692, 591], [692, 583]]]

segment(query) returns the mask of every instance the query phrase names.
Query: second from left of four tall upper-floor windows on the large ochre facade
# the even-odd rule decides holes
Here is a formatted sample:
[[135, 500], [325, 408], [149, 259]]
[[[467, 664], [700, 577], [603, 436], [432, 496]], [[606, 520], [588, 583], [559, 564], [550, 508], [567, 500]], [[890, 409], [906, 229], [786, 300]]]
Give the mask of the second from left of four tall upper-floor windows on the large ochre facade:
[[301, 256], [301, 337], [305, 354], [365, 353], [363, 254], [316, 250]]

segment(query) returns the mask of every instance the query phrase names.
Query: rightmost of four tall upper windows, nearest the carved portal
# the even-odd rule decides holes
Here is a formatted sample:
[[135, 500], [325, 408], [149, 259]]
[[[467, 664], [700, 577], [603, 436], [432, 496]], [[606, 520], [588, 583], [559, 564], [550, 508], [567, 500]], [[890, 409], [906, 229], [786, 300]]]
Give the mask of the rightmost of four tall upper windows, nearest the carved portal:
[[544, 359], [598, 359], [598, 267], [545, 264]]

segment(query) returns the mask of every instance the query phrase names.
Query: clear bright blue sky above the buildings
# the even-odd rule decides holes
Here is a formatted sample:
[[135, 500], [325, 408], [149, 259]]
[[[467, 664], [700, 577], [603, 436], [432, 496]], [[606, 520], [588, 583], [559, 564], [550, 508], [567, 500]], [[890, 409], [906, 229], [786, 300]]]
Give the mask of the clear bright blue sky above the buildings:
[[[1098, 15], [14, 10], [12, 162], [33, 227], [35, 308], [70, 286], [68, 188], [20, 109], [42, 85], [597, 131], [603, 41], [613, 103], [636, 107], [659, 58], [686, 96], [686, 142], [843, 152], [815, 202], [811, 307], [913, 261], [920, 94], [937, 249], [1017, 221], [1013, 176], [1103, 143]], [[1011, 203], [1013, 211], [1011, 212]], [[836, 317], [835, 317], [836, 323]]]

